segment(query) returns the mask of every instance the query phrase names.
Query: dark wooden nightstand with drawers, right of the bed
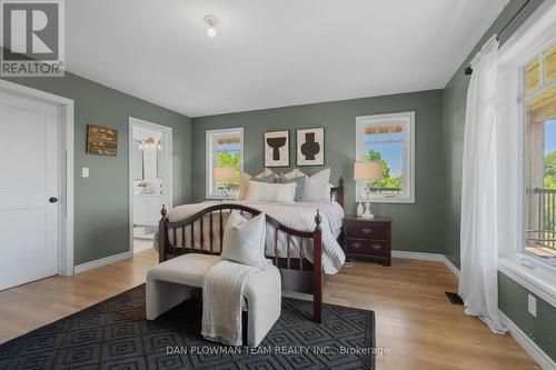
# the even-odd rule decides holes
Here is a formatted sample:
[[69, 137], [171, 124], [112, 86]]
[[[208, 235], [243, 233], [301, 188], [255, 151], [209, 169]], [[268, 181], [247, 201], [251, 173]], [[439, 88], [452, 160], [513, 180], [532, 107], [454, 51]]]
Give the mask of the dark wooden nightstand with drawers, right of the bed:
[[344, 251], [350, 258], [365, 258], [390, 266], [391, 219], [375, 216], [373, 220], [357, 216], [344, 217]]

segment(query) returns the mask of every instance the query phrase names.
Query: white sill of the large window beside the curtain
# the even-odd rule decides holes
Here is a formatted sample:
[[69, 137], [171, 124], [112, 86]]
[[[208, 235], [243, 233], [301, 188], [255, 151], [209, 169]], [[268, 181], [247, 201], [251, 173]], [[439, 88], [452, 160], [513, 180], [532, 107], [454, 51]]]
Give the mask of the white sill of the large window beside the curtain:
[[498, 271], [556, 307], [556, 270], [540, 262], [527, 261], [533, 267], [524, 266], [517, 256], [500, 257]]

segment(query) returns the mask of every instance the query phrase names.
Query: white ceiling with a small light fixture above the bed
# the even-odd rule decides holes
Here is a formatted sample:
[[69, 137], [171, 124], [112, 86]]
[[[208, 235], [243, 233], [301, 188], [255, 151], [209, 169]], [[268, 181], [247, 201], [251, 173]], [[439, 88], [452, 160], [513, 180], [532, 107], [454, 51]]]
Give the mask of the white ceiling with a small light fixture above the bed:
[[506, 3], [70, 0], [67, 67], [189, 117], [438, 89]]

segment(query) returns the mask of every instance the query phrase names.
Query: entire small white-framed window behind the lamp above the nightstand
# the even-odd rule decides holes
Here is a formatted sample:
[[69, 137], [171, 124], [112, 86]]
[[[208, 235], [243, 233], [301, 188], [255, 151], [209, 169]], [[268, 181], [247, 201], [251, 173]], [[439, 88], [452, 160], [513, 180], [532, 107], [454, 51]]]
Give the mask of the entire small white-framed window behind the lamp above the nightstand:
[[357, 117], [358, 161], [383, 163], [383, 178], [356, 181], [356, 201], [415, 202], [415, 112]]

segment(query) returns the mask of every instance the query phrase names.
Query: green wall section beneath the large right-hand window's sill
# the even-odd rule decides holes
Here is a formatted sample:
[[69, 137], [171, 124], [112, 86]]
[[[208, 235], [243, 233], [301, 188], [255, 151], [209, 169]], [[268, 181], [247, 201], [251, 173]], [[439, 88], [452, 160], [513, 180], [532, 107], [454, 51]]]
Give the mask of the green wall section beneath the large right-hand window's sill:
[[537, 298], [537, 317], [527, 312], [527, 294], [535, 296], [498, 272], [498, 307], [522, 331], [556, 361], [556, 310]]

